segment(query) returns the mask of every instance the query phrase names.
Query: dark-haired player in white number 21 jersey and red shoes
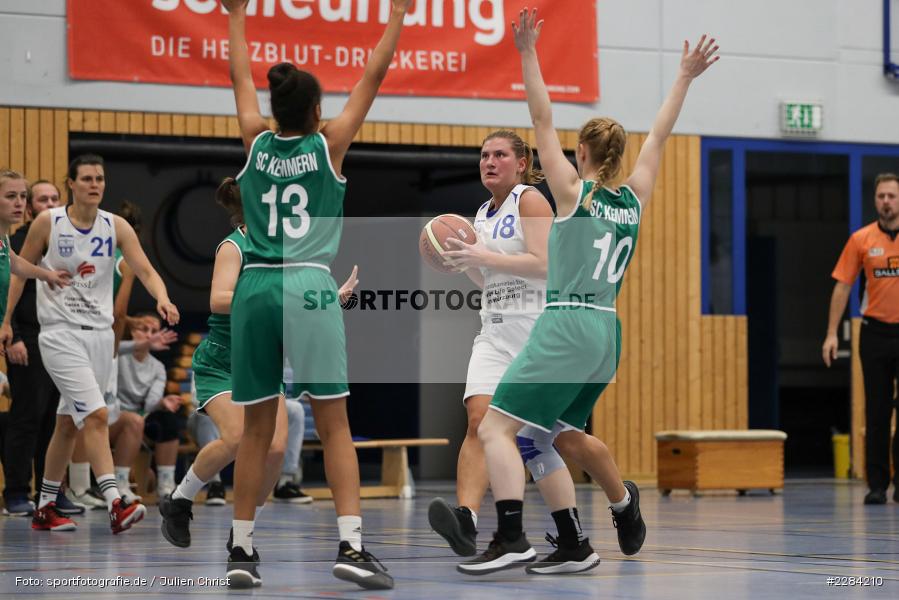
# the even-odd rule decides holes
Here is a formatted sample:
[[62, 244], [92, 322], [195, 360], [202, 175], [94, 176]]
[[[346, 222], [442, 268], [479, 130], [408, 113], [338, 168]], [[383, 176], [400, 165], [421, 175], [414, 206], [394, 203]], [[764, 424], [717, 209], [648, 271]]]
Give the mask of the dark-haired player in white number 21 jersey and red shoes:
[[[120, 533], [140, 521], [146, 509], [137, 502], [124, 502], [116, 487], [103, 399], [113, 356], [115, 248], [122, 248], [125, 260], [156, 299], [157, 311], [169, 324], [178, 322], [178, 309], [169, 301], [165, 284], [147, 260], [131, 226], [121, 217], [100, 210], [106, 188], [103, 159], [93, 155], [75, 158], [69, 165], [67, 183], [71, 204], [38, 215], [21, 252], [30, 263], [43, 256], [44, 265], [73, 273], [68, 287], [37, 288], [41, 324], [38, 343], [47, 372], [59, 388], [60, 402], [31, 527], [75, 529], [74, 521], [56, 511], [55, 500], [75, 436], [82, 429], [91, 467], [106, 499], [112, 532]], [[11, 335], [9, 317], [22, 285], [16, 278], [10, 286], [9, 306], [0, 331], [4, 343]]]

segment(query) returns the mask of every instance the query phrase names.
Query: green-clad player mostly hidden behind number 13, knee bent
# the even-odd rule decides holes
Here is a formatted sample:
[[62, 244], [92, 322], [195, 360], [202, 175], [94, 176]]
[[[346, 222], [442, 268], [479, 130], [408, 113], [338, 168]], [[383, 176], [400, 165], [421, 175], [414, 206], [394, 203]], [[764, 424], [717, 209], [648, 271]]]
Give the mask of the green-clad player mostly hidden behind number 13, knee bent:
[[[191, 363], [197, 410], [209, 415], [221, 437], [203, 446], [193, 465], [181, 480], [178, 488], [159, 501], [162, 514], [162, 534], [175, 546], [190, 546], [190, 520], [193, 518], [193, 499], [212, 477], [225, 468], [237, 455], [237, 447], [243, 434], [244, 409], [231, 402], [231, 300], [234, 288], [244, 266], [246, 250], [246, 226], [240, 187], [226, 178], [216, 190], [218, 202], [231, 217], [234, 231], [218, 245], [212, 274], [209, 304], [209, 335], [194, 351]], [[357, 270], [340, 288], [343, 301], [356, 286]], [[278, 416], [275, 433], [265, 463], [265, 480], [256, 500], [255, 518], [278, 477], [287, 446], [287, 407], [283, 394], [278, 398]], [[229, 548], [230, 551], [230, 548]]]

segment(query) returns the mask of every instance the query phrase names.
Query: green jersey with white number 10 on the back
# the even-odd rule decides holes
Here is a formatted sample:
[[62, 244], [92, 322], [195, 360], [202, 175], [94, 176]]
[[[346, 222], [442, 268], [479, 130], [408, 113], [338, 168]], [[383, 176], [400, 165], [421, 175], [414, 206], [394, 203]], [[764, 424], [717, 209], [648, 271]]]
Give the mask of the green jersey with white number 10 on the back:
[[577, 209], [556, 219], [549, 234], [547, 306], [591, 305], [609, 309], [621, 291], [624, 272], [634, 256], [642, 206], [628, 186], [614, 192], [581, 182]]

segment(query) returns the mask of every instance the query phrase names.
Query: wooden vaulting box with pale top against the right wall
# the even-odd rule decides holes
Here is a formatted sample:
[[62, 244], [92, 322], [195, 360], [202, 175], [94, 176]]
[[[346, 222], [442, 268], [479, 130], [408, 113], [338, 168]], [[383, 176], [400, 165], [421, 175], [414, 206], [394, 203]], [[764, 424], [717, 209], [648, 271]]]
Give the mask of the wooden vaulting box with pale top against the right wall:
[[772, 429], [721, 431], [660, 431], [659, 492], [673, 489], [735, 489], [742, 496], [762, 488], [772, 494], [784, 485], [784, 440]]

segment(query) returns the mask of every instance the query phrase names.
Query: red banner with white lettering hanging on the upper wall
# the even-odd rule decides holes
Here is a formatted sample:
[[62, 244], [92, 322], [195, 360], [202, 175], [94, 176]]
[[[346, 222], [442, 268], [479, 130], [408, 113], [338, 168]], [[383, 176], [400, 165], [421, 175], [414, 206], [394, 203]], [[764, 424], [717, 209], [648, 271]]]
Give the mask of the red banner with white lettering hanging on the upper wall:
[[[594, 0], [416, 0], [385, 94], [524, 97], [510, 23], [541, 9], [539, 42], [554, 99], [599, 99]], [[327, 92], [362, 75], [391, 0], [250, 0], [247, 38], [259, 87], [276, 63], [314, 73]], [[68, 0], [73, 79], [229, 86], [227, 13], [218, 0]]]

